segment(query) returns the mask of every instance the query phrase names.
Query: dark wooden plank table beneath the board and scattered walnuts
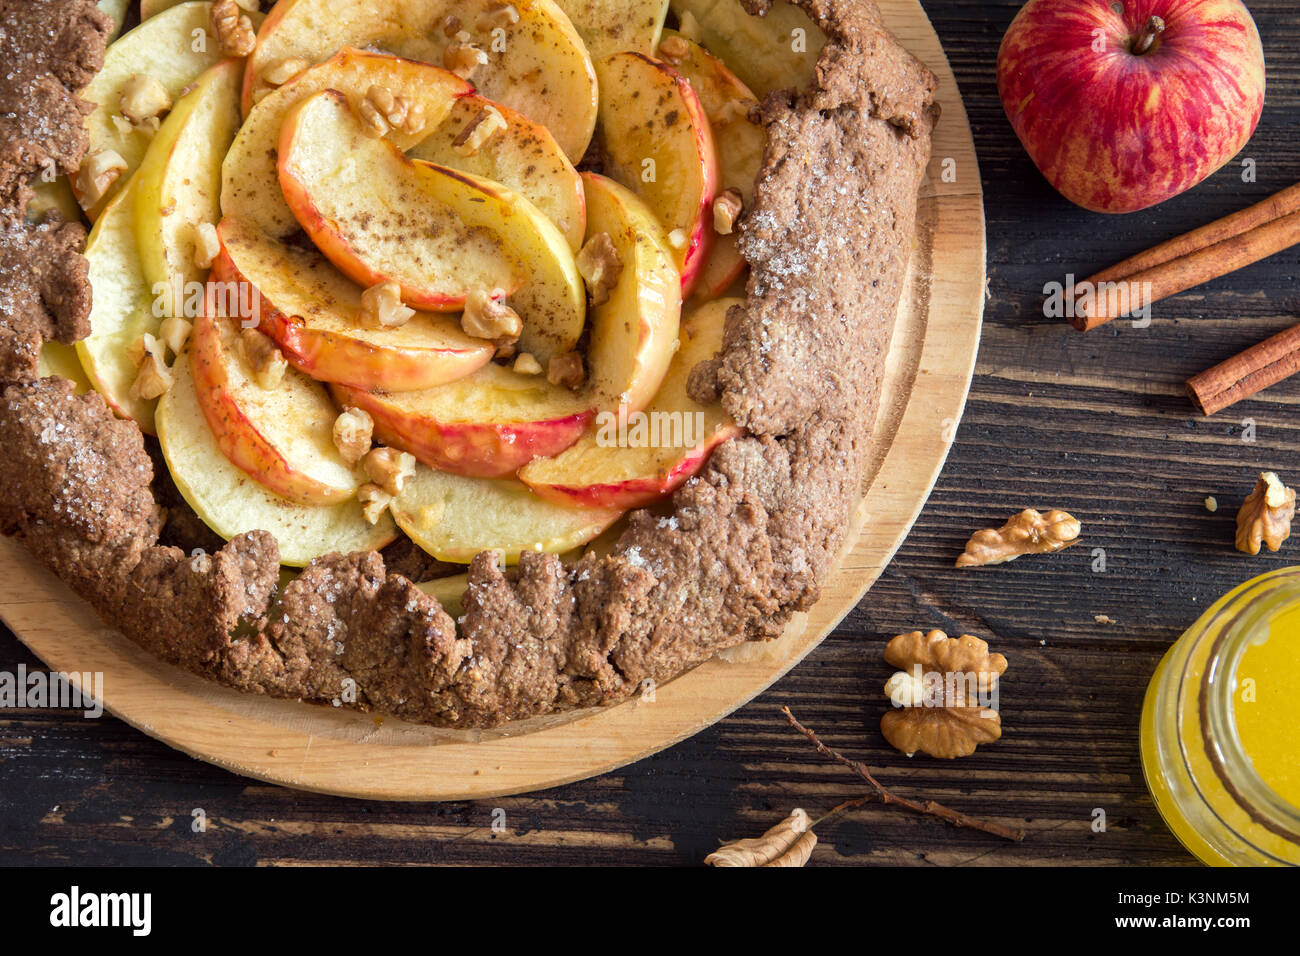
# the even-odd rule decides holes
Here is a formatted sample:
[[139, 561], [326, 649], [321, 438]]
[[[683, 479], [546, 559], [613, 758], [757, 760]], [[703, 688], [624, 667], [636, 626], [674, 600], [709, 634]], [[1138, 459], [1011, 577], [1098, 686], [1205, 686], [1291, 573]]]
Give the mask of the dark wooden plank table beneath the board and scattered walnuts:
[[[1234, 584], [1292, 562], [1232, 550], [1234, 514], [1261, 468], [1300, 480], [1300, 381], [1206, 420], [1187, 376], [1297, 321], [1300, 251], [1080, 336], [1043, 317], [1043, 287], [1226, 215], [1300, 179], [1300, 20], [1251, 0], [1268, 108], [1238, 161], [1153, 211], [1071, 207], [1036, 173], [997, 99], [993, 64], [1019, 0], [928, 0], [970, 112], [988, 216], [989, 293], [970, 403], [920, 520], [867, 600], [749, 706], [656, 757], [528, 796], [441, 805], [299, 793], [190, 760], [112, 718], [0, 711], [0, 864], [697, 864], [793, 806], [859, 791], [786, 728], [790, 705], [900, 792], [1028, 830], [1018, 845], [867, 806], [822, 830], [814, 864], [1170, 864], [1192, 858], [1143, 784], [1138, 714], [1169, 644]], [[1253, 423], [1253, 429], [1247, 424]], [[1252, 440], [1253, 438], [1253, 440]], [[1206, 496], [1221, 507], [1210, 514]], [[975, 529], [1061, 507], [1086, 545], [953, 570]], [[1105, 550], [1097, 572], [1095, 549]], [[1098, 624], [1096, 615], [1115, 623]], [[946, 763], [879, 732], [883, 641], [913, 628], [987, 639], [1010, 659], [1002, 740]], [[38, 661], [0, 635], [0, 670]], [[208, 827], [194, 832], [192, 812]], [[497, 809], [504, 830], [493, 829]], [[1093, 829], [1105, 812], [1104, 832]]]

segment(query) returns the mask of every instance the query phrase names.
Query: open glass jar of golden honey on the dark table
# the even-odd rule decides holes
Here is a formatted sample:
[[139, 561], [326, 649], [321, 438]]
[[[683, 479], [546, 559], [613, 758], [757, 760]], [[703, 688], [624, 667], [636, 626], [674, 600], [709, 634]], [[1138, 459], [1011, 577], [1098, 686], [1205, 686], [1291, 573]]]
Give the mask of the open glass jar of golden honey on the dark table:
[[1234, 589], [1169, 649], [1143, 705], [1141, 763], [1201, 861], [1300, 865], [1300, 567]]

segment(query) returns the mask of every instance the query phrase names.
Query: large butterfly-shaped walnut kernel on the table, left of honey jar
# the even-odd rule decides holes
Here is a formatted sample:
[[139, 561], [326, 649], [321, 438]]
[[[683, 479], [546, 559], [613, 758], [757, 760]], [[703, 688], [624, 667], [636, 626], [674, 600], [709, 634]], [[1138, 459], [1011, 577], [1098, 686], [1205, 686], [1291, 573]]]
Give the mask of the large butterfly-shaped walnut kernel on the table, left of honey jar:
[[982, 700], [994, 695], [1006, 658], [979, 637], [911, 631], [885, 645], [885, 661], [900, 670], [885, 684], [893, 710], [880, 731], [896, 749], [952, 760], [1002, 736], [1001, 715]]

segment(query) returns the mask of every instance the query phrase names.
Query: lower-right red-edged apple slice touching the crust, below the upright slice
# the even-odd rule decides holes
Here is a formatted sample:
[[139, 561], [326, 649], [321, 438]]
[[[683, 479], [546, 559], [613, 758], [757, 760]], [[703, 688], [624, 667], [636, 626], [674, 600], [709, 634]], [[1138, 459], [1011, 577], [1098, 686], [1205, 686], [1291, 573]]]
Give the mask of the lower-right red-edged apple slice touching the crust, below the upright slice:
[[682, 320], [681, 349], [645, 412], [602, 412], [571, 449], [524, 466], [524, 484], [560, 505], [616, 510], [645, 507], [680, 488], [741, 432], [722, 406], [699, 405], [686, 392], [690, 371], [722, 347], [727, 310], [740, 302], [715, 299]]

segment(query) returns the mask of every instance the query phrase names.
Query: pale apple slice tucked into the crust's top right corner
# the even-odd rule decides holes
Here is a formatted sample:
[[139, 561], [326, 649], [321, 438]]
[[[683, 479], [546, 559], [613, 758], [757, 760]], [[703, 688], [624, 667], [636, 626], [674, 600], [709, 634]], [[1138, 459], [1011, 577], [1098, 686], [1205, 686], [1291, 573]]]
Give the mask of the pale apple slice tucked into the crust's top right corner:
[[798, 7], [775, 0], [755, 17], [740, 0], [672, 0], [671, 5], [679, 20], [690, 14], [699, 42], [758, 96], [803, 90], [816, 78], [826, 34]]

